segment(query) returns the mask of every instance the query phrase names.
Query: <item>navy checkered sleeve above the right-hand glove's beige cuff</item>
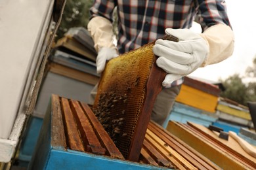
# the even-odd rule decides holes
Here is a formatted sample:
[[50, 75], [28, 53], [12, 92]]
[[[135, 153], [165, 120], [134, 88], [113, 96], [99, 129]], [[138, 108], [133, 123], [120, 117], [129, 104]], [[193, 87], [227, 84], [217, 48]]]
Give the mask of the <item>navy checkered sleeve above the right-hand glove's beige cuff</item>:
[[224, 0], [198, 0], [198, 21], [203, 31], [215, 24], [230, 25]]

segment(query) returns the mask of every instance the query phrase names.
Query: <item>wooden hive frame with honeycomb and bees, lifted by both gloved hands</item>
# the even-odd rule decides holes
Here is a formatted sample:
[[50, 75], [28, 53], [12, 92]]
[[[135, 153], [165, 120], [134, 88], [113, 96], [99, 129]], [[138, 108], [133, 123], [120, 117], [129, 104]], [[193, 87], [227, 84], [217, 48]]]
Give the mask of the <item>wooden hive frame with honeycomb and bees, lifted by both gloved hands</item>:
[[127, 160], [138, 161], [146, 127], [165, 72], [154, 42], [111, 59], [98, 84], [93, 110]]

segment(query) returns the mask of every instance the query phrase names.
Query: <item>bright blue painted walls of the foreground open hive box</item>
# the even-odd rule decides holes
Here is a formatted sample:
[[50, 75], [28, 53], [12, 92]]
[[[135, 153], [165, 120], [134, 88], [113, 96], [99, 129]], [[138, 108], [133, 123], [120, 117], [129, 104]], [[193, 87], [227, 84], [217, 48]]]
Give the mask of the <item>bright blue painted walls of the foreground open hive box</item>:
[[51, 136], [51, 114], [51, 109], [48, 109], [28, 169], [167, 169], [133, 161], [117, 160], [108, 156], [66, 150], [63, 146], [53, 147], [51, 144], [53, 138]]

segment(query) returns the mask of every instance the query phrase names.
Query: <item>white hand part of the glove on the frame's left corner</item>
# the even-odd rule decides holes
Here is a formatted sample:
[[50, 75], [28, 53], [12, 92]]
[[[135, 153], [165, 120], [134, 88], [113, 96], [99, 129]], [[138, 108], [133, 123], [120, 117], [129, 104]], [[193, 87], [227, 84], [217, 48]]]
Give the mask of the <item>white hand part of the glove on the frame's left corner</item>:
[[116, 58], [118, 56], [116, 49], [102, 47], [98, 50], [98, 56], [96, 58], [97, 73], [100, 74], [104, 71], [106, 61]]

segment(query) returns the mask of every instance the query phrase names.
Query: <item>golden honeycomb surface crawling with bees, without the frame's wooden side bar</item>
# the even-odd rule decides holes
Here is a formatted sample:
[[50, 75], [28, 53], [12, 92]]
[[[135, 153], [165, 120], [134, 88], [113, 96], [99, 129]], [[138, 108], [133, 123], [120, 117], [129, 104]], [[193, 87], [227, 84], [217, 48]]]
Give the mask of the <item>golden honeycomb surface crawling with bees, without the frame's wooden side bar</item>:
[[[129, 156], [131, 143], [136, 140], [133, 135], [139, 124], [148, 78], [156, 60], [153, 45], [154, 42], [146, 44], [108, 61], [98, 84], [93, 112], [125, 158]], [[141, 132], [144, 135], [144, 131]]]

